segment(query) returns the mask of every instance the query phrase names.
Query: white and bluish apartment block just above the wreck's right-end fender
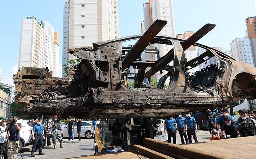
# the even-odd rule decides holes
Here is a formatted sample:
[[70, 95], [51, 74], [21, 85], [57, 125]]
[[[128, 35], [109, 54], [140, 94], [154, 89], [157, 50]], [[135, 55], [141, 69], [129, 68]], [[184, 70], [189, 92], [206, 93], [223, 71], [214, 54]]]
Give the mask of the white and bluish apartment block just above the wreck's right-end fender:
[[249, 38], [236, 38], [230, 43], [232, 57], [255, 67]]

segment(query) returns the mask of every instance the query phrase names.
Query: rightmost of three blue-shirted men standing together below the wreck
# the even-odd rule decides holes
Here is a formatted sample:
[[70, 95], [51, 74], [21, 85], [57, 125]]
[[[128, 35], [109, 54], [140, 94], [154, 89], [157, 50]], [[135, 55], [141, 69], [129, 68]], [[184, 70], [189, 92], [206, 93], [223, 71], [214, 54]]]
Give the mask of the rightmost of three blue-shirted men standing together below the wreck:
[[196, 137], [196, 132], [197, 132], [196, 120], [195, 120], [195, 118], [190, 116], [190, 113], [186, 113], [186, 116], [188, 118], [186, 119], [185, 124], [184, 124], [184, 132], [186, 132], [186, 129], [187, 129], [188, 142], [192, 143], [191, 135], [193, 135], [193, 139], [195, 140], [195, 142], [198, 142], [197, 137]]

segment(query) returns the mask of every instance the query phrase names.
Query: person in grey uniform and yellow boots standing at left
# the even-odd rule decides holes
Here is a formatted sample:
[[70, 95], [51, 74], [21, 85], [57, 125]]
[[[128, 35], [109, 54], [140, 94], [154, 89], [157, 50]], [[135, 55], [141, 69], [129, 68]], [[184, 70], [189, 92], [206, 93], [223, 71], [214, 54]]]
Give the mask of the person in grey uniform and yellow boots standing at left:
[[60, 148], [64, 148], [62, 145], [62, 137], [61, 137], [61, 134], [62, 134], [61, 123], [57, 115], [54, 116], [54, 121], [52, 122], [52, 126], [51, 126], [51, 133], [53, 135], [54, 149], [57, 149], [56, 138], [58, 138], [60, 142]]

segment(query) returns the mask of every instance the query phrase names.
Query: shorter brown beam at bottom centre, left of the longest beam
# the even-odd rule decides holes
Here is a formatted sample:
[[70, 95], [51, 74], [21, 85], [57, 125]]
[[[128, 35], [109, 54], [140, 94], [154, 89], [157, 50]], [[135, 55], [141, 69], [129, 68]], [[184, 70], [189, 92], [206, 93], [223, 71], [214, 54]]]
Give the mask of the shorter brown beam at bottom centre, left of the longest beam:
[[144, 154], [152, 159], [174, 159], [170, 156], [161, 154], [159, 152], [156, 152], [154, 150], [148, 149], [148, 148], [140, 146], [140, 145], [132, 145], [131, 148], [141, 152], [142, 154]]

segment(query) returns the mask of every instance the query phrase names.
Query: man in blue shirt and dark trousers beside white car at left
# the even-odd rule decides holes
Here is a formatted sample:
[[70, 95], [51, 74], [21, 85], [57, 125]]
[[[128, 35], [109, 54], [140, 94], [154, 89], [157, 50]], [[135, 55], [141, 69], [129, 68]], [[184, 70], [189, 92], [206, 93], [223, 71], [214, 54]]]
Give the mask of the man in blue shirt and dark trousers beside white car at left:
[[42, 152], [42, 142], [44, 138], [44, 126], [42, 124], [42, 119], [39, 118], [37, 124], [35, 124], [32, 131], [32, 139], [34, 143], [31, 149], [31, 157], [35, 157], [34, 151], [37, 143], [39, 143], [39, 155], [44, 155], [44, 153]]

